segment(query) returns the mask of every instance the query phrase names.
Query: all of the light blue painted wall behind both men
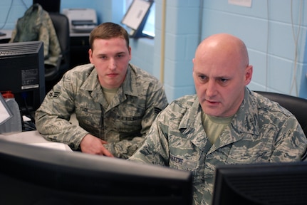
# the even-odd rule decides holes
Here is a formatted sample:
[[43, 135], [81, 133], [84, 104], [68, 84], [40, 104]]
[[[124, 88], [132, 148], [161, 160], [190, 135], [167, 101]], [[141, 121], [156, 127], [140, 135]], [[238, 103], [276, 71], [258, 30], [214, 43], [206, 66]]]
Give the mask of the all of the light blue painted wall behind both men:
[[[155, 40], [131, 39], [131, 62], [163, 81], [169, 101], [195, 93], [192, 80], [194, 51], [200, 39], [220, 32], [231, 33], [246, 43], [250, 63], [254, 65], [253, 80], [249, 85], [251, 90], [307, 98], [306, 1], [253, 0], [251, 7], [231, 5], [227, 0], [155, 1]], [[11, 2], [13, 6], [9, 12]], [[23, 16], [31, 2], [1, 0], [0, 29], [14, 28], [16, 19]], [[62, 0], [61, 9], [96, 9], [99, 23], [120, 23], [124, 5], [125, 0]], [[166, 6], [164, 20], [163, 5]]]

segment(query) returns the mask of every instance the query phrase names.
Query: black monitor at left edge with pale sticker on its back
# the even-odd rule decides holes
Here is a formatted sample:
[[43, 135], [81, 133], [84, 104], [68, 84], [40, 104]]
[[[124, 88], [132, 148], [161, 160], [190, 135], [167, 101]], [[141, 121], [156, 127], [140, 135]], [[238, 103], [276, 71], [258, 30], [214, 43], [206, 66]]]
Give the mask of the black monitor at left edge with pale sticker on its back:
[[0, 43], [0, 91], [11, 90], [23, 114], [35, 111], [45, 98], [42, 41]]

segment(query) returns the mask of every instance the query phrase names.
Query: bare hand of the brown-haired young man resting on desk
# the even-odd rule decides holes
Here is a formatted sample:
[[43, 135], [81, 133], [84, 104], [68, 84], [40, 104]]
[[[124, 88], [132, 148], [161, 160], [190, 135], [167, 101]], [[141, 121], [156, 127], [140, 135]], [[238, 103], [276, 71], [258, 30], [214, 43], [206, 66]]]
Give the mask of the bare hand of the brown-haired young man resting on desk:
[[103, 144], [108, 144], [108, 142], [105, 142], [104, 140], [100, 140], [98, 137], [88, 134], [83, 137], [83, 140], [81, 140], [80, 148], [81, 151], [84, 153], [100, 154], [105, 155], [107, 157], [113, 157], [113, 154], [111, 154], [108, 149], [105, 149]]

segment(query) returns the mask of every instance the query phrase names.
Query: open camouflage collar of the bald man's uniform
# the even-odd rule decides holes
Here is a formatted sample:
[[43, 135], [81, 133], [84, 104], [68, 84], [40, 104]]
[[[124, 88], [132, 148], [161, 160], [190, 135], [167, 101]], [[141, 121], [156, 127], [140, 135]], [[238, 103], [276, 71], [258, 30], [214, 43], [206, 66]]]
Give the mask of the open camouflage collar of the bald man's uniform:
[[[245, 88], [244, 100], [231, 120], [231, 126], [227, 128], [227, 132], [222, 134], [222, 138], [217, 140], [215, 146], [212, 147], [213, 149], [214, 147], [222, 147], [231, 142], [241, 140], [244, 137], [244, 133], [259, 135], [257, 101], [252, 96], [254, 95], [251, 94], [251, 91]], [[209, 140], [202, 125], [202, 107], [196, 95], [192, 106], [182, 117], [179, 130], [200, 149], [205, 149], [205, 147], [209, 146], [207, 144]]]

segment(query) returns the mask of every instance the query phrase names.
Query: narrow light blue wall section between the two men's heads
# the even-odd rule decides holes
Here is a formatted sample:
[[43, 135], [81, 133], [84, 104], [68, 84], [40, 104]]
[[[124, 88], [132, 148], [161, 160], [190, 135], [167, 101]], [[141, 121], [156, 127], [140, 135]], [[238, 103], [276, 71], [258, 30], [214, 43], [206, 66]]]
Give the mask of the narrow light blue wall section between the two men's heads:
[[[156, 1], [156, 13], [161, 14], [164, 1]], [[166, 1], [165, 20], [156, 16], [154, 70], [163, 77], [169, 101], [194, 94], [192, 58], [198, 44], [200, 1]], [[165, 32], [162, 33], [162, 21]], [[165, 35], [165, 45], [162, 45]], [[162, 49], [165, 55], [161, 56]], [[164, 59], [163, 59], [164, 58]], [[161, 65], [161, 61], [163, 65]]]

